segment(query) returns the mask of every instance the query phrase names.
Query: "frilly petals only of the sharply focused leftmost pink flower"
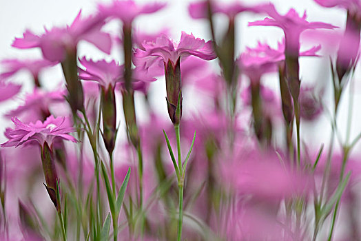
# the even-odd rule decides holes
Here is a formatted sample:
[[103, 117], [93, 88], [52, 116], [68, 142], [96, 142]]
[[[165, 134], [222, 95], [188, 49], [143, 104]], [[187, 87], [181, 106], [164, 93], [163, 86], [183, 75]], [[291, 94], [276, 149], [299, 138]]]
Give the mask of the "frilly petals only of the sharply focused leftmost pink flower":
[[6, 137], [9, 139], [6, 143], [1, 144], [1, 147], [19, 147], [26, 143], [39, 143], [43, 146], [48, 143], [52, 146], [54, 139], [62, 138], [76, 143], [77, 140], [71, 136], [70, 132], [76, 132], [72, 127], [72, 122], [67, 117], [49, 116], [43, 123], [37, 121], [36, 123], [24, 124], [18, 118], [11, 119], [15, 124], [14, 129], [6, 130]]

